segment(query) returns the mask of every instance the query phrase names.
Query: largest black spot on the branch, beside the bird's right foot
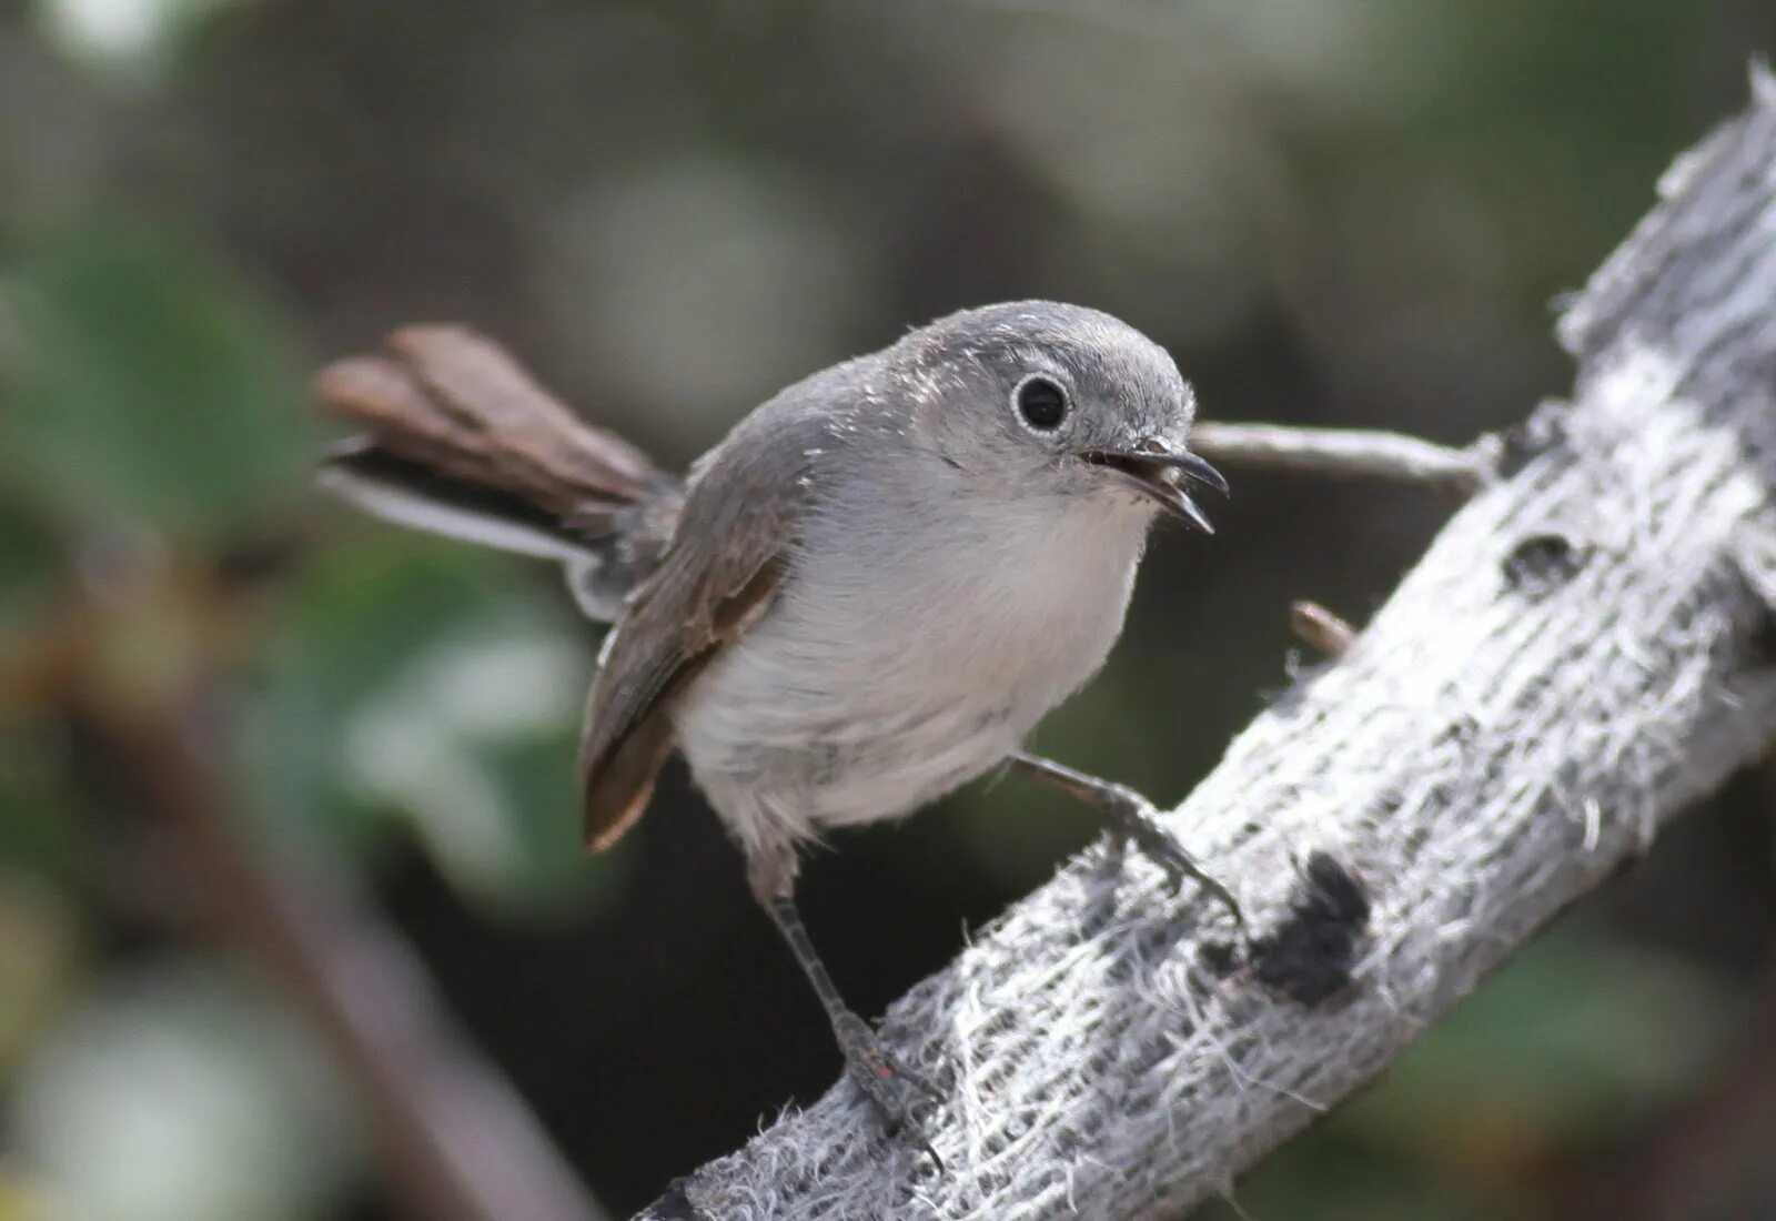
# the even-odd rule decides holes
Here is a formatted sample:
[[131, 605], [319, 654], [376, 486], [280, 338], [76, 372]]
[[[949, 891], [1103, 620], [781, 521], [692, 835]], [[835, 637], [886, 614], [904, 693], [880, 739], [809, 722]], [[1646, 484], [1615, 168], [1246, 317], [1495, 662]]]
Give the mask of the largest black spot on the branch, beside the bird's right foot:
[[1357, 946], [1369, 926], [1369, 894], [1327, 852], [1302, 866], [1302, 884], [1275, 930], [1252, 942], [1257, 981], [1302, 1004], [1321, 1004], [1350, 983]]

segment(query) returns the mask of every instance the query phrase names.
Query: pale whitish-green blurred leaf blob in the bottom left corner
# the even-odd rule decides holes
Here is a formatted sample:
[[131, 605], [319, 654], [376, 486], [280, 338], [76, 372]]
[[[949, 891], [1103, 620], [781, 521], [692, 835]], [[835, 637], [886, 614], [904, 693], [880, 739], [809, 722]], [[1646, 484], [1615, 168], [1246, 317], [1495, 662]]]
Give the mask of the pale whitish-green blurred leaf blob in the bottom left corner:
[[94, 994], [25, 1067], [9, 1127], [59, 1221], [327, 1216], [359, 1141], [304, 1031], [185, 960]]

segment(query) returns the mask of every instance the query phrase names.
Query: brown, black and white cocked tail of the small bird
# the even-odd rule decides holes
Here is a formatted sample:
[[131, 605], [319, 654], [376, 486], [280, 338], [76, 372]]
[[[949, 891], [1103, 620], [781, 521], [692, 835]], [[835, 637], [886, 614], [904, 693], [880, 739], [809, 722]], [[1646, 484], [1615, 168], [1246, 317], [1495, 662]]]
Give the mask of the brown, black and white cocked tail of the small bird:
[[405, 327], [382, 353], [321, 369], [314, 396], [368, 429], [327, 456], [325, 488], [401, 525], [561, 561], [595, 619], [616, 618], [684, 502], [646, 454], [464, 327]]

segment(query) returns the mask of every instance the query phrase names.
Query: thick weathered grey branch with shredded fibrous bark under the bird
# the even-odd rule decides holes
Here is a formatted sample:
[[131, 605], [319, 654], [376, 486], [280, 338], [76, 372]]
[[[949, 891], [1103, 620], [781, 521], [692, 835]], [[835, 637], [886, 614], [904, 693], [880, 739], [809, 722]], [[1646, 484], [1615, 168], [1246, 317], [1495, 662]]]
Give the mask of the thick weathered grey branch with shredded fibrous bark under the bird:
[[1572, 403], [1172, 825], [1252, 941], [1090, 852], [895, 1003], [947, 1171], [849, 1084], [652, 1217], [1176, 1217], [1776, 740], [1776, 87], [1559, 334]]

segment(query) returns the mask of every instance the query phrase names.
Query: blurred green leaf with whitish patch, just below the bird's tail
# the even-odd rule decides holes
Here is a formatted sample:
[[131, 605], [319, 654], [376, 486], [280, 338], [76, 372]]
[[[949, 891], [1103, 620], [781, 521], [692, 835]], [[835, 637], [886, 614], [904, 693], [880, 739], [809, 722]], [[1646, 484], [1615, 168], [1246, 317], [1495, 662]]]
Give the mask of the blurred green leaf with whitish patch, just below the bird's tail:
[[[250, 776], [277, 834], [334, 848], [408, 820], [480, 903], [556, 909], [611, 864], [579, 847], [574, 735], [588, 646], [520, 566], [375, 532], [316, 557], [266, 642]], [[590, 635], [590, 630], [586, 630]]]

